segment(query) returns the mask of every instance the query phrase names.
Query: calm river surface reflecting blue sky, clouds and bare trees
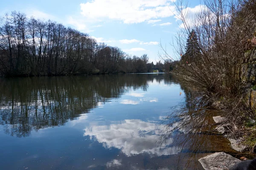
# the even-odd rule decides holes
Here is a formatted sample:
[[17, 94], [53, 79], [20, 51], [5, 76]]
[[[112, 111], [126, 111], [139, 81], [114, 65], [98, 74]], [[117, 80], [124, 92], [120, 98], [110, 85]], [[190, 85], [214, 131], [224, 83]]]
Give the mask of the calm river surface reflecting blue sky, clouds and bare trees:
[[3, 170], [200, 170], [198, 159], [207, 153], [233, 152], [214, 135], [158, 142], [163, 119], [187, 98], [169, 74], [0, 82]]

